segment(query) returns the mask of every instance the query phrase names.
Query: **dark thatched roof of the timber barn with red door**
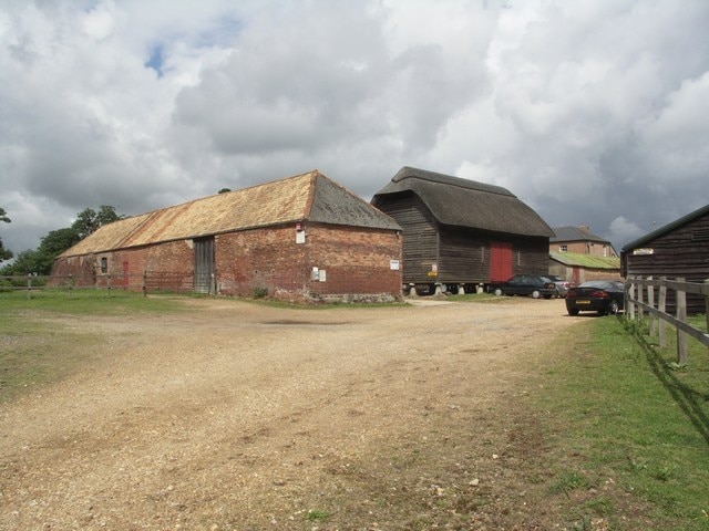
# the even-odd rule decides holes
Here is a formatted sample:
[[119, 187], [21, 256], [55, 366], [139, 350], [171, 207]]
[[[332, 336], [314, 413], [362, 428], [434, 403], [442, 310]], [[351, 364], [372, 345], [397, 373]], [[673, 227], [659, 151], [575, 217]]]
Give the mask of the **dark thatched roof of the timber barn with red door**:
[[372, 198], [415, 194], [441, 225], [520, 236], [553, 237], [554, 231], [506, 188], [404, 166]]

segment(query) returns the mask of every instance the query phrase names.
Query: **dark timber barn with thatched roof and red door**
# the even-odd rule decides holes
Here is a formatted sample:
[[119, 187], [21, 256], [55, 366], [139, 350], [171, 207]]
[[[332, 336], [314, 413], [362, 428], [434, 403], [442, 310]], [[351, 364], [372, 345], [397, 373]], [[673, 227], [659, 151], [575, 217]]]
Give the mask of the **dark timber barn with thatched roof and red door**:
[[548, 274], [554, 231], [510, 190], [404, 166], [372, 205], [402, 227], [404, 292], [460, 293]]

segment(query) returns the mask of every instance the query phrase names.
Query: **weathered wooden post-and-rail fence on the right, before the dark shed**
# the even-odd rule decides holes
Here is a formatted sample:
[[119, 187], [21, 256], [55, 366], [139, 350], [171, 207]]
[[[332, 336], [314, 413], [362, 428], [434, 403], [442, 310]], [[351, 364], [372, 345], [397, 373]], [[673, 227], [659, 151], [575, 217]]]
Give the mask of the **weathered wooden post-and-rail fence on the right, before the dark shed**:
[[[656, 291], [657, 290], [657, 291]], [[676, 315], [667, 313], [667, 292], [675, 292]], [[667, 346], [667, 324], [671, 324], [677, 330], [677, 363], [686, 364], [687, 339], [695, 340], [709, 347], [709, 334], [691, 326], [687, 322], [687, 294], [693, 293], [702, 295], [706, 304], [707, 331], [709, 331], [709, 280], [703, 283], [685, 282], [685, 279], [667, 280], [653, 279], [648, 277], [628, 277], [626, 279], [626, 315], [628, 319], [643, 317], [647, 312], [650, 317], [650, 336], [659, 335], [660, 346]]]

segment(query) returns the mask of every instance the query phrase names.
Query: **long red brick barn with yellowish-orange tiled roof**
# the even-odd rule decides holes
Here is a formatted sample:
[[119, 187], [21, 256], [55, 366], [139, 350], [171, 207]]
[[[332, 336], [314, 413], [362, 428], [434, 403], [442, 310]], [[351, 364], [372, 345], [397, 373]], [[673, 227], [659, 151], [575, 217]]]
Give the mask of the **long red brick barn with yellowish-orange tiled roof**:
[[55, 281], [285, 300], [401, 298], [401, 228], [317, 170], [101, 227]]

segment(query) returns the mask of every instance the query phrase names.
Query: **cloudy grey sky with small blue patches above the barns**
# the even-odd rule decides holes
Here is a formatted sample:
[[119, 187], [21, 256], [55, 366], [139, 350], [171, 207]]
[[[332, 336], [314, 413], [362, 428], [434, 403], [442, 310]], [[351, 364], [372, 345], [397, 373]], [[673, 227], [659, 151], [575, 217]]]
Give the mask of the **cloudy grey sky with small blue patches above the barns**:
[[0, 238], [414, 166], [619, 250], [709, 202], [707, 28], [706, 0], [3, 0]]

